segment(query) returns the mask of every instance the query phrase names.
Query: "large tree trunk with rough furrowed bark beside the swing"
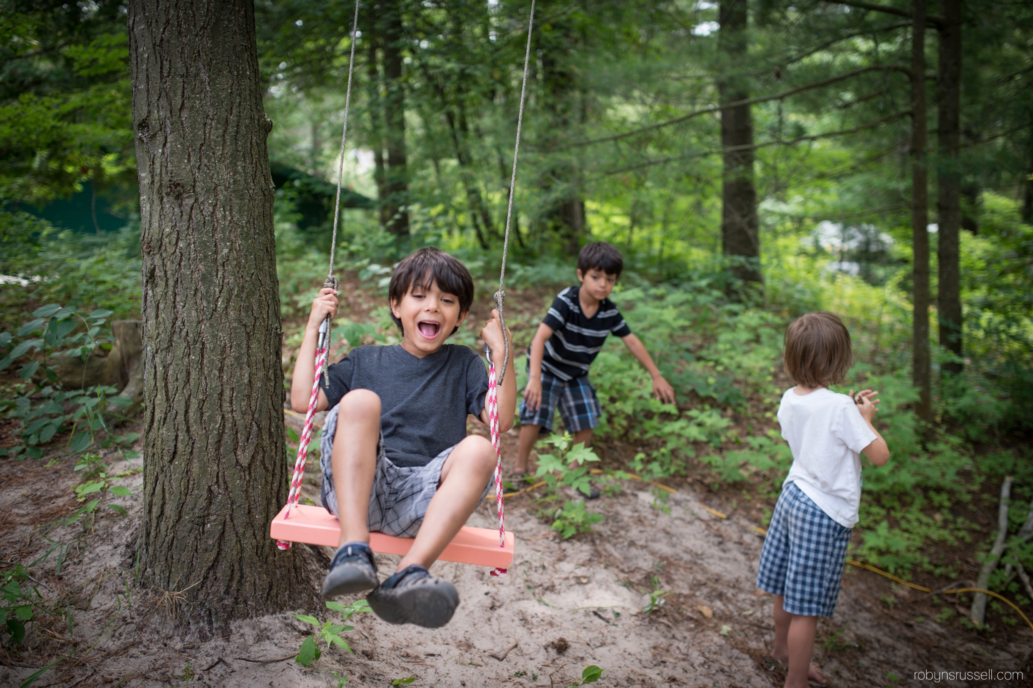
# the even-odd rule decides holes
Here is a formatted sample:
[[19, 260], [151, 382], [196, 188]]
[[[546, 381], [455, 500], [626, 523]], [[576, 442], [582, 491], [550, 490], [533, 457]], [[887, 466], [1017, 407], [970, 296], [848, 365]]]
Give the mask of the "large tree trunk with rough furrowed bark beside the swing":
[[[142, 568], [213, 628], [314, 601], [287, 498], [273, 183], [251, 0], [131, 0], [143, 249]], [[169, 597], [177, 603], [177, 595]]]

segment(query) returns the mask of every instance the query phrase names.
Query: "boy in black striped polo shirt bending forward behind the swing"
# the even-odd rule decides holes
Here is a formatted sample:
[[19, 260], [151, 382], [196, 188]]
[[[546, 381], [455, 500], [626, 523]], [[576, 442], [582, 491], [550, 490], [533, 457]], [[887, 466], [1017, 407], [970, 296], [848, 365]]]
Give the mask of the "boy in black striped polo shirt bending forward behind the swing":
[[[588, 379], [589, 367], [606, 336], [621, 338], [631, 354], [653, 376], [657, 399], [675, 403], [675, 389], [663, 379], [641, 341], [609, 301], [609, 292], [624, 269], [620, 252], [606, 242], [588, 244], [577, 256], [577, 281], [561, 291], [538, 325], [528, 350], [528, 382], [520, 405], [520, 448], [514, 473], [528, 472], [531, 448], [538, 435], [553, 428], [556, 407], [574, 443], [592, 441], [599, 425], [599, 399]], [[593, 490], [593, 496], [598, 492]]]

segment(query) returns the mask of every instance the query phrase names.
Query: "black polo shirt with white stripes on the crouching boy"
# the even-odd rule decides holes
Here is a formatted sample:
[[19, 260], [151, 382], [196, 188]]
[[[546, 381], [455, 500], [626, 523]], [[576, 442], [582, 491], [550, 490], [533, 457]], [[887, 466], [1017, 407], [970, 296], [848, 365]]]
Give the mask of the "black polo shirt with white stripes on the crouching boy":
[[541, 368], [561, 380], [587, 375], [589, 366], [611, 333], [618, 337], [631, 334], [621, 312], [608, 299], [599, 303], [595, 315], [585, 317], [577, 301], [580, 290], [581, 287], [574, 286], [561, 291], [542, 319], [542, 323], [552, 327], [554, 333], [545, 342]]

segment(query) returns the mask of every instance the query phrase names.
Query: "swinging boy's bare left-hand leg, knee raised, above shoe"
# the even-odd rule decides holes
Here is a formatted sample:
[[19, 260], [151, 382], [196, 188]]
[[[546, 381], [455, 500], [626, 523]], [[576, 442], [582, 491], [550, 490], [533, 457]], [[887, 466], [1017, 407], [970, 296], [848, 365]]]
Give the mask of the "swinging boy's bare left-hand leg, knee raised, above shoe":
[[370, 495], [377, 470], [380, 441], [380, 397], [369, 389], [352, 389], [341, 399], [334, 433], [334, 491], [345, 542], [369, 542]]

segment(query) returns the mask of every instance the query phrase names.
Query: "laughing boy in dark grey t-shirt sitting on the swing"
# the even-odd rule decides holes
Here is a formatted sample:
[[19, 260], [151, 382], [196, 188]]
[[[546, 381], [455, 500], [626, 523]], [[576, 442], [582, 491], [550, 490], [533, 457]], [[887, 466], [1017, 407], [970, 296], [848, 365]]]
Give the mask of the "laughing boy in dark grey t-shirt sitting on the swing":
[[[435, 248], [416, 251], [396, 268], [388, 300], [402, 343], [355, 347], [319, 381], [316, 408], [331, 408], [321, 443], [322, 503], [341, 522], [322, 594], [371, 590], [367, 600], [384, 621], [437, 628], [451, 619], [459, 593], [428, 569], [483, 499], [495, 469], [491, 441], [466, 434], [467, 414], [489, 423], [488, 372], [469, 347], [445, 344], [473, 303], [473, 279], [462, 262]], [[300, 413], [312, 389], [319, 324], [337, 307], [328, 288], [312, 303], [290, 390]], [[498, 311], [480, 336], [501, 368]], [[511, 365], [498, 396], [504, 433], [516, 406]], [[371, 530], [415, 537], [383, 583]]]

